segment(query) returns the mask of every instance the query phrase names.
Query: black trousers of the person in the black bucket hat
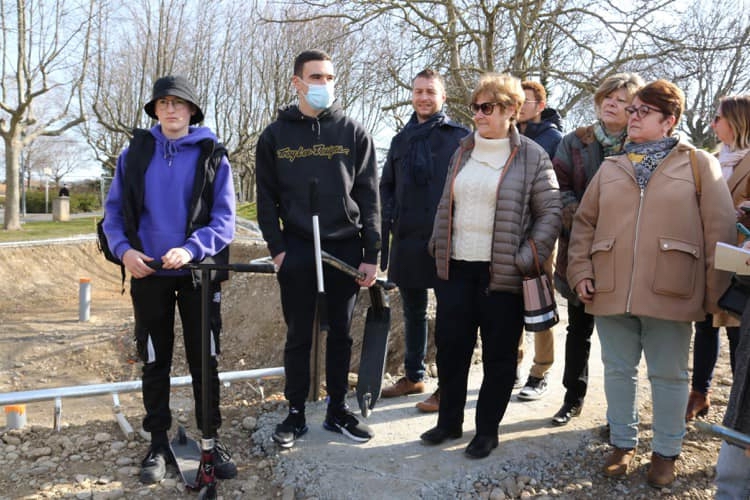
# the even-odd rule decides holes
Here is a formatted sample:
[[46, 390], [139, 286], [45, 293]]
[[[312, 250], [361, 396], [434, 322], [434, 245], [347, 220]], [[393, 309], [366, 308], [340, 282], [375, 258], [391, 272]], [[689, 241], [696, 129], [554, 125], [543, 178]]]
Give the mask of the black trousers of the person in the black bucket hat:
[[[221, 285], [211, 285], [211, 422], [216, 431], [221, 427], [219, 410], [219, 373], [216, 355], [219, 353], [221, 333]], [[166, 432], [172, 424], [169, 409], [170, 371], [174, 350], [175, 305], [182, 321], [190, 376], [193, 379], [193, 399], [198, 428], [203, 429], [202, 373], [201, 373], [201, 289], [191, 276], [149, 276], [131, 279], [130, 296], [135, 313], [135, 338], [138, 354], [143, 361], [142, 392], [146, 416], [143, 429], [147, 432]]]

